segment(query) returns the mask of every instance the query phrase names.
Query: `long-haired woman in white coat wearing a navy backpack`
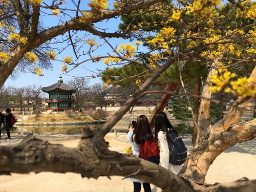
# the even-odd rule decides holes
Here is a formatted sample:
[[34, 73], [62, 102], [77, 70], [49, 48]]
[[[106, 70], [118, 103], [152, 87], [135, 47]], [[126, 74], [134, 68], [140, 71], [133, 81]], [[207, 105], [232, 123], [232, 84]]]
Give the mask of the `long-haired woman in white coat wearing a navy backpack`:
[[174, 129], [172, 123], [170, 123], [167, 115], [164, 112], [157, 113], [155, 116], [155, 139], [160, 150], [159, 165], [178, 175], [182, 165], [173, 165], [169, 163], [168, 133], [170, 129], [173, 129], [173, 132], [178, 135], [178, 132]]

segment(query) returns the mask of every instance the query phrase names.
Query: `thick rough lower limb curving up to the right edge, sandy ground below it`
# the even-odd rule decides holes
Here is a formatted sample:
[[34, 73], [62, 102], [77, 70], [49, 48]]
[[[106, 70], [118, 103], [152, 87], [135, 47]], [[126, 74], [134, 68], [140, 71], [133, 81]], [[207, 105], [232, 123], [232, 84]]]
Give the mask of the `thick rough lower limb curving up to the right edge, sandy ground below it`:
[[190, 181], [204, 183], [210, 165], [222, 152], [237, 143], [253, 139], [255, 135], [256, 119], [229, 127], [214, 138], [202, 140], [197, 148], [190, 151], [179, 175]]

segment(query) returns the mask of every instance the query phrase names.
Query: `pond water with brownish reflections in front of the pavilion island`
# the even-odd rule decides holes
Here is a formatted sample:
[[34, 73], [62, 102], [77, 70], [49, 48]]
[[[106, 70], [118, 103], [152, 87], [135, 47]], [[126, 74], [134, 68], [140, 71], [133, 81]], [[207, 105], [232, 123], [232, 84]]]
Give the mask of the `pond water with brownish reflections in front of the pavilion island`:
[[[115, 130], [118, 132], [127, 132], [129, 124], [131, 123], [131, 120], [120, 120], [118, 121], [113, 129], [111, 130], [114, 132]], [[56, 126], [14, 126], [10, 129], [10, 132], [12, 133], [37, 133], [37, 134], [58, 134], [59, 132], [62, 134], [80, 134], [81, 129], [86, 125], [56, 125]], [[88, 125], [91, 129], [94, 129], [95, 127], [101, 126], [101, 125]], [[2, 129], [3, 131], [6, 131], [5, 129]]]

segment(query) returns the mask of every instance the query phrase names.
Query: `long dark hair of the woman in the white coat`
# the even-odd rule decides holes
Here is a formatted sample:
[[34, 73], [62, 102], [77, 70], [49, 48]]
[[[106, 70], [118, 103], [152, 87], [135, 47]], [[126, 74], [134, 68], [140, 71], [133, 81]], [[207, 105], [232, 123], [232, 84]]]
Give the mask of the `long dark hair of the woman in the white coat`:
[[169, 129], [173, 129], [173, 132], [175, 132], [178, 135], [178, 132], [174, 129], [172, 123], [170, 123], [167, 115], [164, 112], [159, 112], [155, 116], [155, 139], [158, 143], [158, 132], [162, 131], [164, 133], [164, 138], [167, 142], [169, 142], [168, 132]]

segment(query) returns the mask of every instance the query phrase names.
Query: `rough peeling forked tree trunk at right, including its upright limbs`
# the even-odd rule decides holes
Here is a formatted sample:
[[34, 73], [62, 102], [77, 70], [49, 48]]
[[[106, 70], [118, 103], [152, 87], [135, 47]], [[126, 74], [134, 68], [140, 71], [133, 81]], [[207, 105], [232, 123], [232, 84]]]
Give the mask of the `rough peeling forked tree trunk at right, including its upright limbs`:
[[[256, 66], [254, 67], [250, 78], [256, 77]], [[254, 80], [255, 83], [255, 80]], [[206, 86], [207, 87], [207, 86]], [[205, 89], [205, 87], [204, 87]], [[207, 88], [208, 89], [208, 88]], [[204, 91], [208, 94], [207, 91]], [[203, 93], [204, 93], [203, 92]], [[203, 95], [205, 97], [205, 95]], [[207, 95], [208, 96], [208, 95]], [[206, 97], [207, 97], [206, 96]], [[198, 143], [197, 147], [192, 150], [189, 154], [189, 158], [183, 165], [182, 170], [180, 172], [180, 176], [185, 177], [186, 179], [193, 180], [196, 182], [204, 183], [204, 178], [207, 174], [207, 171], [212, 164], [212, 162], [228, 147], [233, 146], [239, 142], [248, 141], [255, 137], [255, 129], [244, 130], [243, 125], [239, 123], [245, 109], [241, 108], [239, 104], [248, 104], [253, 96], [248, 97], [246, 99], [238, 98], [234, 103], [234, 106], [230, 109], [229, 113], [219, 122], [214, 125], [210, 125], [207, 122], [208, 114], [205, 115], [205, 112], [201, 111], [203, 117], [200, 120], [203, 121], [203, 125], [209, 124], [207, 129], [202, 134], [201, 142]], [[209, 98], [209, 97], [208, 97]], [[208, 102], [203, 100], [201, 105], [205, 106], [205, 103]], [[205, 109], [206, 110], [206, 109]], [[201, 115], [201, 114], [199, 114]], [[252, 120], [247, 122], [249, 127], [254, 127], [256, 124], [256, 120]], [[202, 123], [201, 123], [202, 124]], [[236, 125], [236, 126], [233, 126]], [[200, 130], [201, 127], [198, 129]], [[248, 133], [245, 133], [248, 132]], [[230, 135], [227, 133], [231, 133]], [[233, 134], [233, 135], [232, 135]], [[200, 138], [201, 135], [198, 137]], [[207, 136], [207, 137], [206, 137]]]

